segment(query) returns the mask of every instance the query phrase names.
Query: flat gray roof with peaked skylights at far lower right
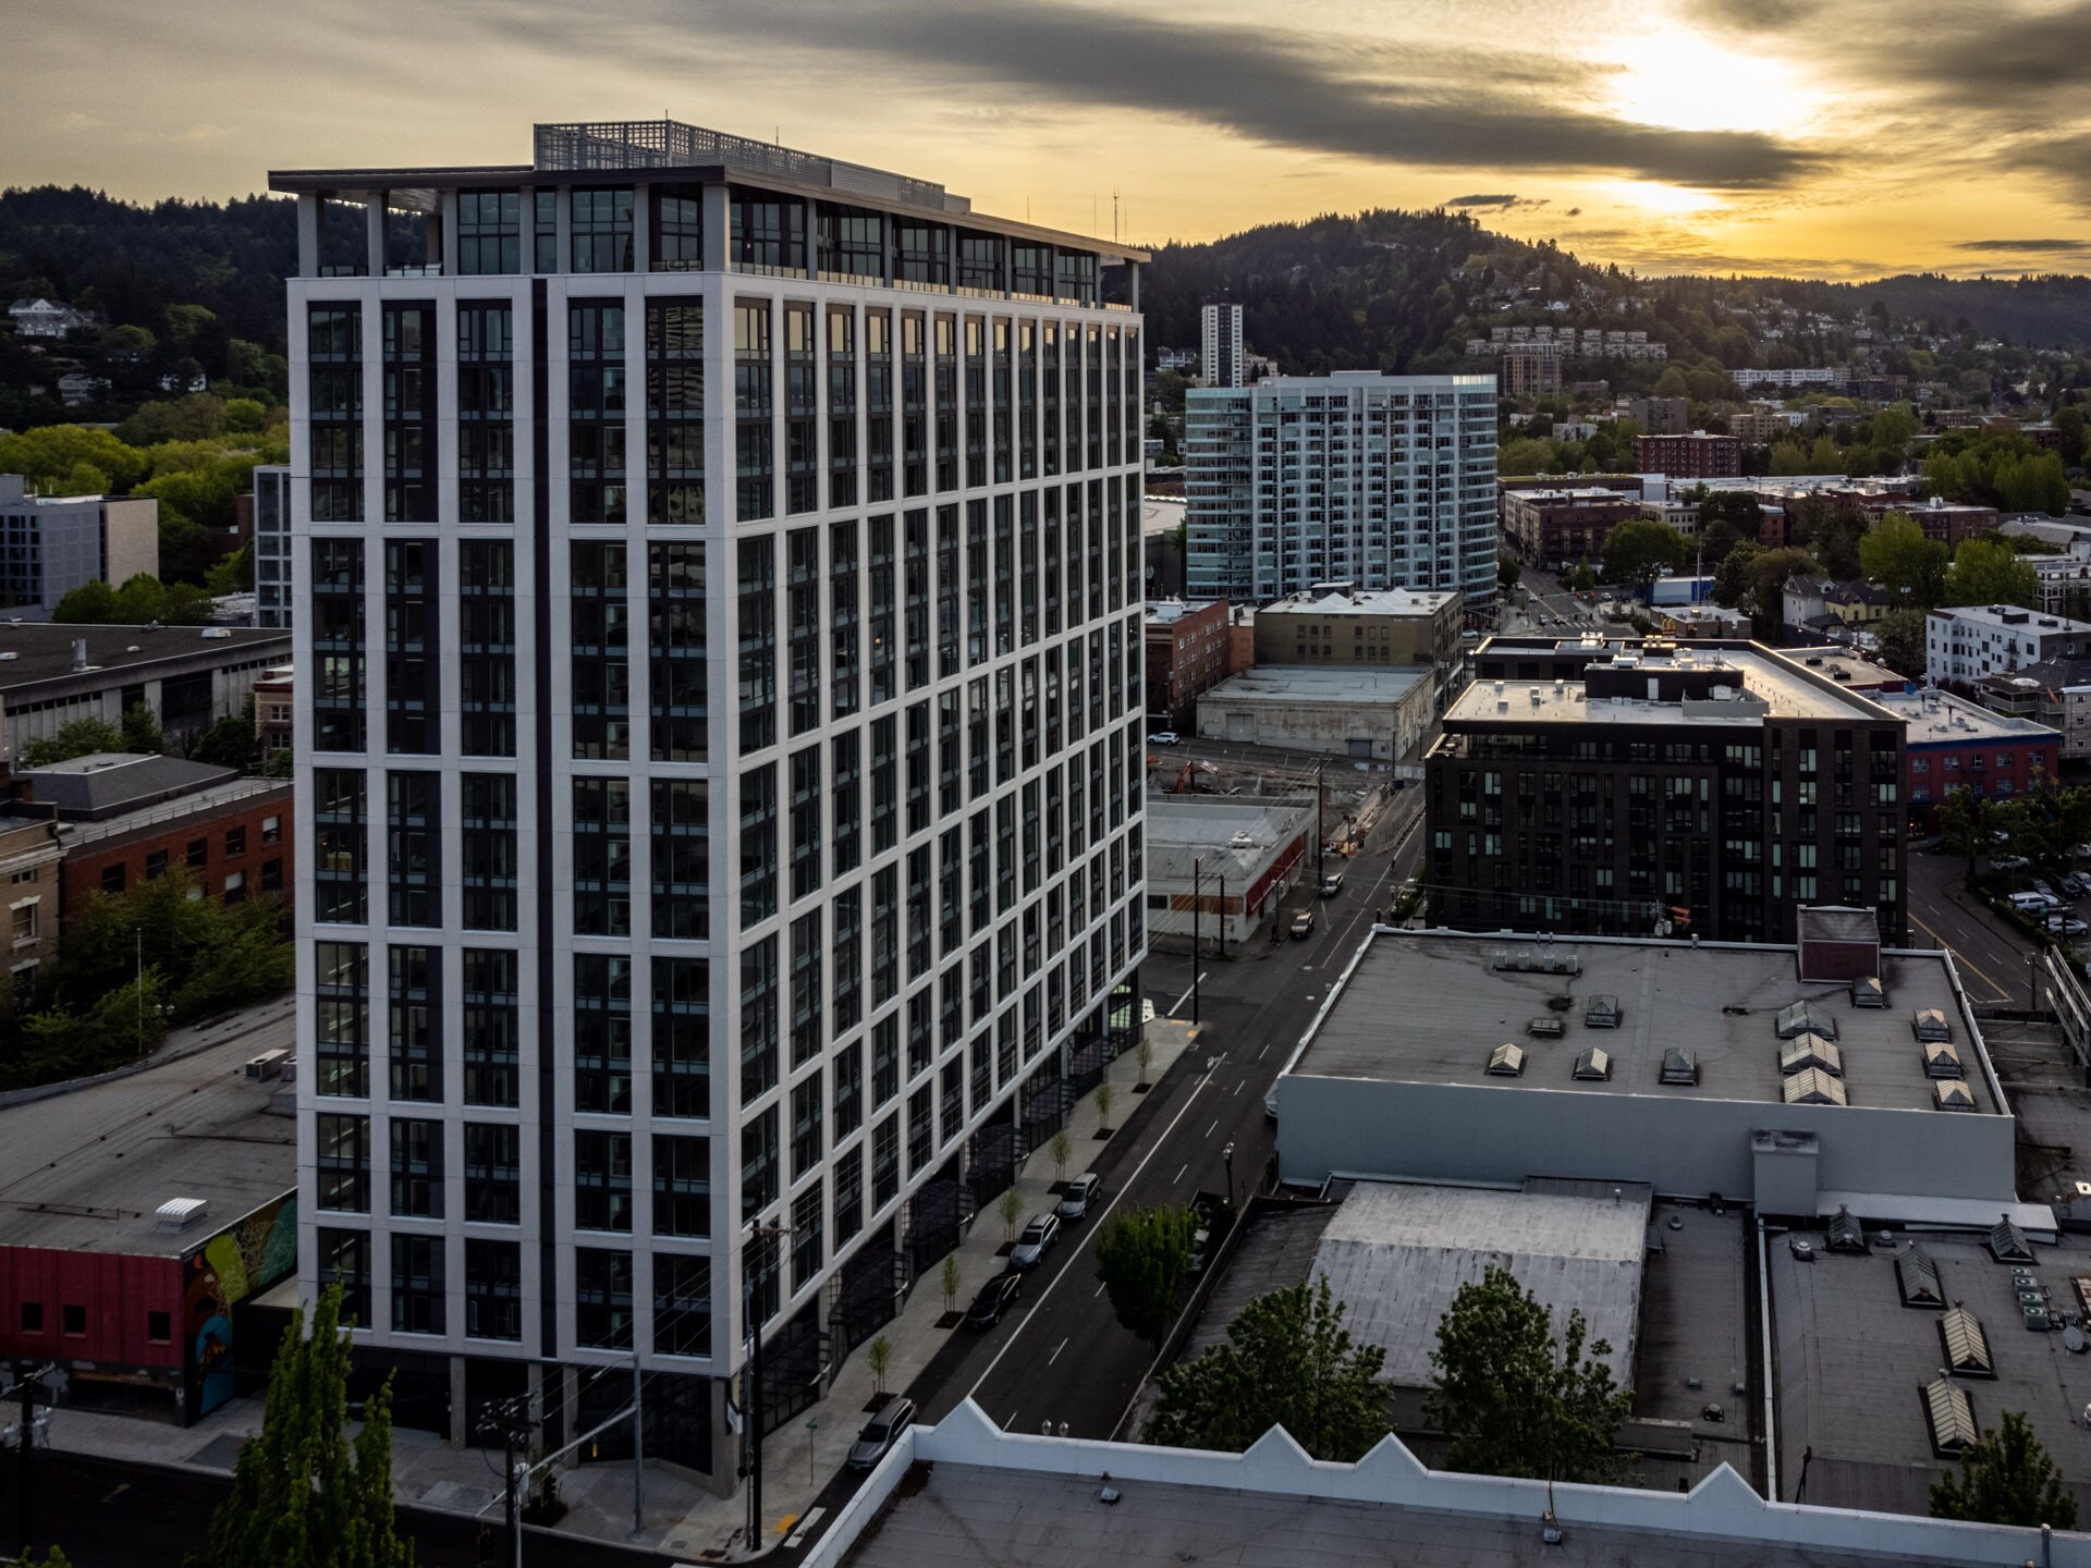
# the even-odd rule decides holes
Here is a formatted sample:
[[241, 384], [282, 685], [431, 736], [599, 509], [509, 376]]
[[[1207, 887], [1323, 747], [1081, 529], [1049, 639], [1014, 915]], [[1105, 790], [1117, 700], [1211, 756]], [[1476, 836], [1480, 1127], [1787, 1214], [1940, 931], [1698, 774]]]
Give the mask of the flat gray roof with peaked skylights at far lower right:
[[[1796, 1231], [1821, 1246], [1821, 1231]], [[1890, 1514], [1928, 1514], [1930, 1484], [1951, 1468], [1932, 1453], [1920, 1386], [1945, 1365], [1940, 1311], [1905, 1307], [1894, 1261], [1915, 1242], [1938, 1267], [1945, 1300], [1972, 1311], [1989, 1338], [1997, 1376], [1955, 1378], [1980, 1428], [2003, 1411], [2024, 1411], [2062, 1466], [2078, 1509], [2091, 1509], [2091, 1355], [2070, 1355], [2062, 1334], [2032, 1332], [2012, 1288], [2012, 1269], [1976, 1236], [1894, 1231], [1894, 1246], [1869, 1254], [1794, 1259], [1788, 1238], [1769, 1254], [1779, 1493], [1800, 1501]], [[2032, 1275], [2058, 1309], [2078, 1311], [2074, 1275], [2091, 1277], [2091, 1246], [2064, 1238], [2035, 1246]]]

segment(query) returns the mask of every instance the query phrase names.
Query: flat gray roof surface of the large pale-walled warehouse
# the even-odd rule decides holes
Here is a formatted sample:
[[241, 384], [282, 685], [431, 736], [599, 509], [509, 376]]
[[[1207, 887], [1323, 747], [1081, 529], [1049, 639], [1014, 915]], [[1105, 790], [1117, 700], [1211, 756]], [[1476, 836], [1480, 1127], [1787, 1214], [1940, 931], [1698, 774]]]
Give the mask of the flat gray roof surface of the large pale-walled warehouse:
[[[1499, 962], [1575, 960], [1579, 974], [1497, 968]], [[1681, 1100], [1759, 1100], [1779, 1104], [1777, 1014], [1811, 1001], [1838, 1029], [1844, 1091], [1853, 1106], [1928, 1110], [1934, 1081], [1911, 1016], [1940, 1010], [1959, 1047], [1966, 1085], [1978, 1112], [1997, 1100], [1982, 1073], [1974, 1018], [1961, 1006], [1945, 953], [1884, 953], [1886, 1008], [1855, 1008], [1842, 983], [1802, 985], [1792, 947], [1472, 935], [1376, 928], [1351, 972], [1330, 995], [1299, 1058], [1305, 1077], [1384, 1083], [1474, 1083], [1568, 1093], [1675, 1096]], [[1618, 999], [1616, 1029], [1585, 1024], [1593, 995]], [[1568, 997], [1562, 1012], [1547, 1004]], [[1535, 1018], [1562, 1022], [1560, 1039], [1535, 1039]], [[1516, 1043], [1522, 1077], [1491, 1077], [1489, 1052]], [[1612, 1058], [1610, 1079], [1577, 1079], [1587, 1047]], [[1662, 1056], [1681, 1047], [1698, 1058], [1698, 1083], [1660, 1081]], [[1970, 1112], [1936, 1112], [1970, 1114]]]

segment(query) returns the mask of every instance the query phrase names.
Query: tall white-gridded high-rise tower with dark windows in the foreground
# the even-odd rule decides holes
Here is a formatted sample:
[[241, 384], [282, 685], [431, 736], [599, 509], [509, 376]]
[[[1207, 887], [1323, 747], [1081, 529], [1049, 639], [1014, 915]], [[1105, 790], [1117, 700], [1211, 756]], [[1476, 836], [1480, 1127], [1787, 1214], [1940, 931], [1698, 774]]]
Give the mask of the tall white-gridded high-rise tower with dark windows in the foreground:
[[1146, 257], [673, 121], [272, 188], [299, 1279], [730, 1491], [1138, 1037]]

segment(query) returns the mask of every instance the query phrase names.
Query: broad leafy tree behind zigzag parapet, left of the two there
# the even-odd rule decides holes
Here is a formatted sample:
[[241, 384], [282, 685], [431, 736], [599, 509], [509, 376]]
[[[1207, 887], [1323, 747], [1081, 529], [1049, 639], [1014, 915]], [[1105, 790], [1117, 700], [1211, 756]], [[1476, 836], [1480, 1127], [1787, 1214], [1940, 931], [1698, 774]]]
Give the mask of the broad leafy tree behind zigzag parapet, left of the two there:
[[1161, 1380], [1144, 1443], [1240, 1453], [1282, 1426], [1315, 1459], [1355, 1463], [1384, 1438], [1386, 1351], [1353, 1344], [1328, 1275], [1248, 1302], [1227, 1342], [1179, 1361]]

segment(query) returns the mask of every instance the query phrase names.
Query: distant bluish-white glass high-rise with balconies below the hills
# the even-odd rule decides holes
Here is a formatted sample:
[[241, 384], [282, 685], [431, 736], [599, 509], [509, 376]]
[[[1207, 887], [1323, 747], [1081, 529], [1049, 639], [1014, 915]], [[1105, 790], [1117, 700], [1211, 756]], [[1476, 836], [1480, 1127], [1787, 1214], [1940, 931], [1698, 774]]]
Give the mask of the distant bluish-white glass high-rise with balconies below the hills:
[[1495, 594], [1495, 376], [1273, 376], [1192, 389], [1192, 598], [1317, 583]]

